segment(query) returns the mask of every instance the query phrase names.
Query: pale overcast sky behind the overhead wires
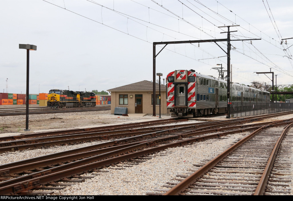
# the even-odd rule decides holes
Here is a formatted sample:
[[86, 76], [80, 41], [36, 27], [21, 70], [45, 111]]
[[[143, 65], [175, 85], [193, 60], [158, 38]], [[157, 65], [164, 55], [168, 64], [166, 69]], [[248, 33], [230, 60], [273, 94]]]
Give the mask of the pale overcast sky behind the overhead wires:
[[[53, 5], [54, 4], [54, 5]], [[224, 39], [231, 27], [232, 81], [293, 84], [293, 1], [91, 1], [0, 0], [0, 92], [25, 93], [26, 50], [30, 94], [56, 88], [108, 90], [153, 80], [153, 42]], [[251, 44], [252, 42], [252, 44]], [[226, 42], [218, 42], [227, 51]], [[190, 70], [218, 77], [212, 68], [226, 53], [215, 43], [169, 44], [156, 57], [156, 72]], [[157, 46], [157, 52], [163, 46]], [[284, 49], [286, 49], [284, 51]]]

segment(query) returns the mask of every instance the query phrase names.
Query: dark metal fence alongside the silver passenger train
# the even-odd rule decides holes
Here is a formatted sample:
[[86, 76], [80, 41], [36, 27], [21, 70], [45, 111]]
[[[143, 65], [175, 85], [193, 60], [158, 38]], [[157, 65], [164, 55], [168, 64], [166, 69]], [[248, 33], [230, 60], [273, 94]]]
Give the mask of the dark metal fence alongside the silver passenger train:
[[292, 111], [293, 103], [232, 102], [230, 107], [231, 117], [242, 117], [259, 114], [271, 114], [283, 111]]

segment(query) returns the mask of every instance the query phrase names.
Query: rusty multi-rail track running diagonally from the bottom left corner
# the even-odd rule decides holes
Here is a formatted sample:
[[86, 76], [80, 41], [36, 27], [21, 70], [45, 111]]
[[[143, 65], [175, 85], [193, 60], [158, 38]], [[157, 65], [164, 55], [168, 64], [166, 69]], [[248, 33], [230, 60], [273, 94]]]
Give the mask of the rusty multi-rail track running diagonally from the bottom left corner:
[[[85, 171], [94, 171], [121, 161], [147, 156], [150, 153], [158, 152], [168, 147], [186, 145], [200, 140], [243, 132], [243, 129], [255, 130], [261, 127], [261, 124], [254, 124], [249, 127], [245, 126], [247, 128], [242, 126], [241, 130], [239, 130], [241, 125], [229, 127], [228, 124], [231, 125], [229, 123], [231, 121], [227, 121], [227, 125], [223, 125], [224, 121], [213, 122], [214, 128], [208, 125], [209, 123], [185, 125], [179, 128], [161, 128], [162, 130], [155, 130], [151, 133], [126, 138], [123, 136], [120, 139], [112, 139], [110, 142], [104, 142], [99, 145], [70, 150], [64, 153], [60, 152], [54, 157], [47, 155], [47, 158], [37, 157], [33, 159], [34, 161], [24, 160], [22, 164], [15, 162], [2, 165], [0, 166], [0, 175], [2, 176], [0, 194], [29, 194], [31, 193], [28, 191], [30, 189], [49, 188], [42, 185], [53, 185], [54, 187], [51, 187], [51, 189], [54, 189], [56, 185], [59, 185], [59, 181], [67, 181], [67, 185], [69, 185], [68, 182], [70, 181], [81, 181], [84, 178], [80, 178], [78, 175]], [[243, 118], [240, 121], [244, 123], [245, 121], [253, 120]], [[239, 121], [234, 123], [240, 124]], [[219, 125], [227, 128], [216, 128]], [[223, 133], [221, 132], [222, 130], [228, 131]], [[211, 132], [217, 133], [209, 135]], [[166, 142], [167, 144], [164, 144]], [[53, 164], [52, 161], [54, 161]], [[13, 178], [13, 176], [16, 178]], [[81, 180], [76, 180], [76, 178]]]

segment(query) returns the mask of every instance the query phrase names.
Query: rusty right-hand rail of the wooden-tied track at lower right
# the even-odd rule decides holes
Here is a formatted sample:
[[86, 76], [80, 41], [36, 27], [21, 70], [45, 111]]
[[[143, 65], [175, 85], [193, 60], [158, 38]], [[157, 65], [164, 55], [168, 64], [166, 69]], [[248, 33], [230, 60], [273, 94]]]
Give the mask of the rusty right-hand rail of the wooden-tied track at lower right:
[[258, 183], [258, 186], [256, 187], [255, 193], [253, 195], [264, 195], [265, 193], [265, 187], [267, 186], [268, 183], [268, 179], [270, 176], [270, 172], [272, 170], [272, 167], [274, 165], [275, 162], [275, 158], [277, 156], [277, 151], [279, 150], [279, 147], [281, 145], [281, 142], [285, 136], [285, 134], [287, 133], [287, 131], [289, 130], [289, 128], [293, 126], [293, 123], [289, 124], [288, 126], [286, 126], [282, 132], [282, 134], [280, 135], [280, 137], [278, 138], [274, 149], [272, 150], [272, 153], [270, 155], [270, 158], [268, 160], [268, 164], [265, 166], [265, 170], [263, 171], [263, 175], [260, 178], [260, 181]]

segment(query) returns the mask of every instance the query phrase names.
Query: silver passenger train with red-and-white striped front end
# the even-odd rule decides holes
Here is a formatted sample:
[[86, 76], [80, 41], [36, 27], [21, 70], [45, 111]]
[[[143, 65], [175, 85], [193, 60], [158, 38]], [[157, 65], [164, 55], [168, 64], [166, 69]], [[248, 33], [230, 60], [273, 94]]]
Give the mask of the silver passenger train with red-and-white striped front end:
[[[188, 70], [167, 75], [167, 109], [172, 117], [195, 117], [227, 112], [227, 81]], [[229, 102], [270, 102], [270, 93], [230, 83]]]

